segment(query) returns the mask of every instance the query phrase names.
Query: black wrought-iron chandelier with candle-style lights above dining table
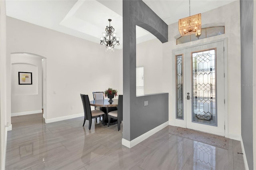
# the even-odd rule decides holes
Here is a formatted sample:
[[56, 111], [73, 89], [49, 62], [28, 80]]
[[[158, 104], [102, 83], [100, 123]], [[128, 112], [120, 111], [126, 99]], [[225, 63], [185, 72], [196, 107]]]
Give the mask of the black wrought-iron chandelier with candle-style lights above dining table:
[[119, 45], [119, 38], [116, 37], [116, 34], [114, 34], [115, 29], [110, 26], [111, 19], [108, 19], [109, 26], [106, 26], [106, 33], [103, 33], [103, 37], [100, 38], [100, 44], [106, 45], [106, 50], [114, 50], [114, 46], [117, 44]]

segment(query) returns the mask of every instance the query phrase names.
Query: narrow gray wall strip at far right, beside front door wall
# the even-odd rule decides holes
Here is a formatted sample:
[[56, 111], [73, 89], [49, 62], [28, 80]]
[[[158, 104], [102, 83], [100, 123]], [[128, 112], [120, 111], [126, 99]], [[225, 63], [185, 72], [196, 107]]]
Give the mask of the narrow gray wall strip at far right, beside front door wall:
[[241, 133], [249, 169], [253, 169], [253, 1], [240, 0]]

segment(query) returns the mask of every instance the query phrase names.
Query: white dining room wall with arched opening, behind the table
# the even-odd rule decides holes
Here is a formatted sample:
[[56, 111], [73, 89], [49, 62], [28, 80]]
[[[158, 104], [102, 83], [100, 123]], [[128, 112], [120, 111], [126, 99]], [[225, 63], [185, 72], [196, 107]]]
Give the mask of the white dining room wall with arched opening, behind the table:
[[14, 52], [34, 53], [47, 60], [47, 120], [83, 113], [80, 93], [91, 100], [92, 91], [108, 87], [122, 94], [121, 50], [106, 52], [100, 43], [7, 17], [7, 53]]

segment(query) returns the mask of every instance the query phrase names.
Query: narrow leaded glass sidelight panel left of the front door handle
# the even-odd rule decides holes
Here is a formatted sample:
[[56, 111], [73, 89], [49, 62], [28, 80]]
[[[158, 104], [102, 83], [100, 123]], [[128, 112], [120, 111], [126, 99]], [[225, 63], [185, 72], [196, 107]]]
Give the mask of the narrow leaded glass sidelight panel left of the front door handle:
[[176, 55], [176, 119], [183, 119], [183, 55]]

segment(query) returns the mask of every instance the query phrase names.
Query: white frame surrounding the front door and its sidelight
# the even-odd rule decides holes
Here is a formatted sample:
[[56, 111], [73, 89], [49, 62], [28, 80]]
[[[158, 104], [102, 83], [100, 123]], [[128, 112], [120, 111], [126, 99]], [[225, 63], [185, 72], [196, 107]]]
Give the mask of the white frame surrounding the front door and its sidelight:
[[[224, 46], [224, 99], [225, 99], [225, 104], [224, 104], [224, 136], [228, 137], [228, 53], [227, 53], [227, 38], [222, 38], [222, 39], [218, 39], [218, 40], [213, 40], [213, 41], [200, 41], [199, 43], [196, 43], [196, 41], [190, 42], [188, 43], [189, 45], [185, 45], [185, 44], [180, 44], [179, 46], [183, 46], [183, 47], [179, 47], [176, 49], [172, 50], [172, 87], [174, 87], [172, 89], [172, 100], [170, 100], [172, 102], [172, 117], [171, 119], [173, 119], [174, 121], [172, 121], [174, 123], [174, 126], [177, 127], [182, 127], [182, 128], [186, 128], [186, 126], [184, 126], [184, 124], [181, 123], [181, 121], [184, 120], [180, 120], [180, 119], [176, 119], [176, 60], [175, 60], [175, 56], [178, 55], [177, 51], [180, 51], [182, 49], [186, 49], [186, 48], [191, 48], [191, 47], [196, 47], [196, 46], [201, 46], [201, 45], [206, 45], [206, 44], [210, 44], [210, 43], [216, 43], [216, 42], [223, 42], [223, 46]], [[193, 43], [193, 44], [192, 44]], [[192, 45], [191, 45], [192, 44]], [[184, 89], [183, 89], [183, 93], [184, 93]], [[186, 105], [184, 104], [183, 107], [186, 107]], [[184, 114], [184, 119], [186, 119], [186, 115]]]

